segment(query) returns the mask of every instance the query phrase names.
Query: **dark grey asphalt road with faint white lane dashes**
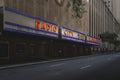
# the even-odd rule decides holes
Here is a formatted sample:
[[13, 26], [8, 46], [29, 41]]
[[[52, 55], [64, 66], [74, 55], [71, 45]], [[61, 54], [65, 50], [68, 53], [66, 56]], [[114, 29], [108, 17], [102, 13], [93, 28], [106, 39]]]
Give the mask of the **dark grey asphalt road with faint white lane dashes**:
[[120, 53], [4, 69], [0, 80], [120, 80]]

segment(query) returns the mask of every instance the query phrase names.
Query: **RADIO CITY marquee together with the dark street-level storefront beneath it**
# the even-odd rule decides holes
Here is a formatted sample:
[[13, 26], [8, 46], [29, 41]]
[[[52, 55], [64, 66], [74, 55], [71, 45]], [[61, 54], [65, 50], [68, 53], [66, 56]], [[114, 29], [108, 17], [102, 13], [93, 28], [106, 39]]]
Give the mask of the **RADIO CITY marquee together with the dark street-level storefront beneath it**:
[[29, 61], [75, 57], [87, 55], [91, 45], [100, 45], [100, 40], [84, 33], [9, 7], [1, 8], [0, 17], [0, 59]]

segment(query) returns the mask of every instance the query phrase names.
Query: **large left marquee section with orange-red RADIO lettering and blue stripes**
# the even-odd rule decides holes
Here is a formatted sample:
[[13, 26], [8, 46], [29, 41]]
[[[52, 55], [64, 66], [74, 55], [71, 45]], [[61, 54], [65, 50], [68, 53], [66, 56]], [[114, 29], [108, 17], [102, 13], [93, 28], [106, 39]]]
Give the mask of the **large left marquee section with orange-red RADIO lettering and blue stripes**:
[[4, 11], [4, 30], [58, 38], [58, 26], [11, 8]]

